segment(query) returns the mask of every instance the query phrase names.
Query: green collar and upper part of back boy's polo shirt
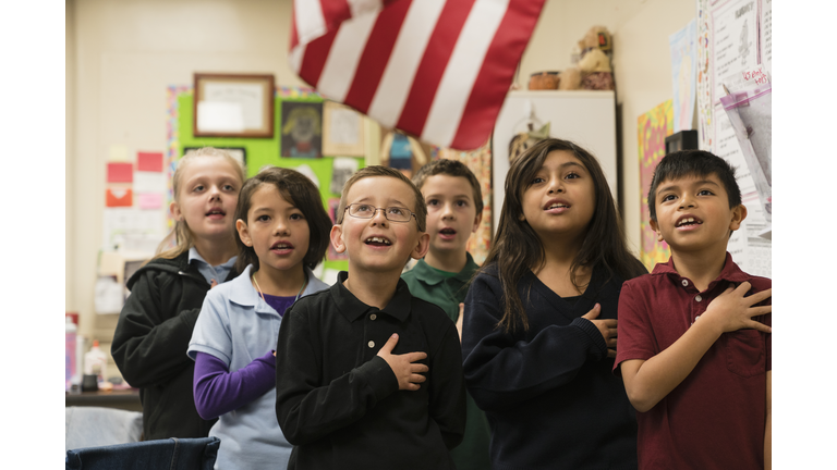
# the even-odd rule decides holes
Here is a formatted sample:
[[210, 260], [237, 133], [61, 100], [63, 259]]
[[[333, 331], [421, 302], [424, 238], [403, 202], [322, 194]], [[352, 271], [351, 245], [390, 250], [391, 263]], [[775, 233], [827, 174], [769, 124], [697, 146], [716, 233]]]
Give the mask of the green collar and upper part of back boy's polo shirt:
[[451, 321], [459, 318], [459, 304], [465, 301], [468, 294], [468, 282], [474, 271], [480, 267], [474, 262], [471, 253], [466, 252], [468, 261], [458, 274], [448, 276], [446, 273], [432, 268], [423, 259], [401, 275], [410, 288], [410, 294], [429, 302], [436, 304]]

